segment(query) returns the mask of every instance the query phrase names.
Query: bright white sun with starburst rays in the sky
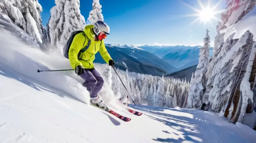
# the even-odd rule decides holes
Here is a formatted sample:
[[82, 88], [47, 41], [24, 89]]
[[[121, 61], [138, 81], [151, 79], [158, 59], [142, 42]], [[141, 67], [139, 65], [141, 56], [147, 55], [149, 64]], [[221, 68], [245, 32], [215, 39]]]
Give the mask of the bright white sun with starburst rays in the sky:
[[[182, 1], [183, 2], [183, 1]], [[183, 4], [185, 4], [186, 6], [188, 6], [189, 8], [191, 8], [193, 11], [195, 11], [196, 13], [194, 14], [188, 14], [188, 15], [184, 15], [185, 17], [197, 17], [194, 21], [192, 21], [190, 24], [195, 23], [195, 22], [199, 22], [199, 23], [204, 23], [204, 25], [207, 22], [212, 22], [212, 20], [218, 20], [220, 21], [220, 19], [216, 18], [215, 15], [221, 12], [224, 12], [225, 10], [220, 10], [217, 11], [216, 8], [218, 7], [218, 5], [220, 4], [221, 0], [219, 0], [217, 2], [217, 4], [215, 4], [214, 6], [210, 6], [210, 0], [208, 0], [208, 4], [207, 6], [204, 6], [201, 2], [201, 0], [197, 0], [197, 3], [199, 4], [201, 9], [196, 9], [195, 7], [192, 7], [191, 5], [183, 2]]]

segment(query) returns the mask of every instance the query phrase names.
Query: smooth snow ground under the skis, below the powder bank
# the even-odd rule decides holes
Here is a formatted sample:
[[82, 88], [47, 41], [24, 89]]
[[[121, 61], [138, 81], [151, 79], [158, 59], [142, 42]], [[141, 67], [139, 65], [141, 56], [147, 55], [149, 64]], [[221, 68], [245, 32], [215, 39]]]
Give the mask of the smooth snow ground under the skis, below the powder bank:
[[5, 65], [0, 71], [0, 142], [224, 143], [253, 142], [256, 135], [215, 113], [181, 108], [130, 105], [144, 114], [117, 110], [132, 118], [125, 123]]

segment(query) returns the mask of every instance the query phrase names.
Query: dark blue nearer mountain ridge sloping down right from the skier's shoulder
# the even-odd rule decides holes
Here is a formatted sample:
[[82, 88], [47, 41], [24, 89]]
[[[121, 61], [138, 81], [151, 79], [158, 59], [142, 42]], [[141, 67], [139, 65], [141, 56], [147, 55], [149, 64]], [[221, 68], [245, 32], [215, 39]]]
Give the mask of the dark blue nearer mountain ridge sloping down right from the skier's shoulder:
[[[159, 75], [172, 73], [178, 69], [168, 64], [156, 55], [136, 46], [105, 44], [108, 53], [115, 61], [116, 67], [130, 72]], [[100, 56], [95, 55], [96, 63], [106, 63]]]

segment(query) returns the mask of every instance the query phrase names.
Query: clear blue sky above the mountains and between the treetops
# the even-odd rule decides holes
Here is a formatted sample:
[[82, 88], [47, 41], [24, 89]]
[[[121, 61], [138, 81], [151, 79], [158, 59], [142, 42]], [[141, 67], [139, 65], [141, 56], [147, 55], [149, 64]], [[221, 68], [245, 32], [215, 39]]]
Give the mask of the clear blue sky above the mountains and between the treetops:
[[[208, 0], [201, 0], [204, 5]], [[219, 0], [210, 0], [215, 5]], [[211, 41], [216, 35], [216, 20], [211, 23], [193, 23], [197, 17], [184, 17], [195, 14], [185, 2], [197, 9], [201, 9], [196, 0], [100, 0], [104, 22], [110, 27], [110, 35], [105, 43], [129, 45], [200, 45], [210, 30]], [[50, 18], [50, 9], [54, 0], [39, 0], [43, 7], [42, 19], [44, 25]], [[225, 9], [225, 0], [222, 0], [216, 11]], [[92, 0], [80, 1], [81, 14], [88, 18], [92, 10]], [[220, 19], [220, 14], [215, 15]], [[211, 42], [211, 46], [213, 43]]]

